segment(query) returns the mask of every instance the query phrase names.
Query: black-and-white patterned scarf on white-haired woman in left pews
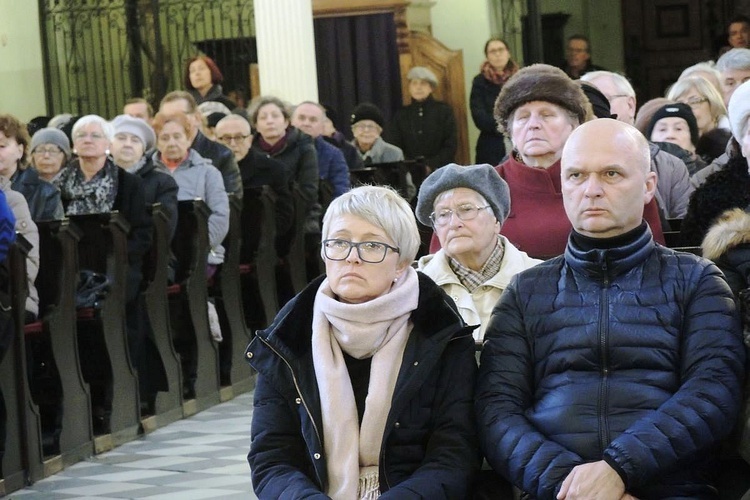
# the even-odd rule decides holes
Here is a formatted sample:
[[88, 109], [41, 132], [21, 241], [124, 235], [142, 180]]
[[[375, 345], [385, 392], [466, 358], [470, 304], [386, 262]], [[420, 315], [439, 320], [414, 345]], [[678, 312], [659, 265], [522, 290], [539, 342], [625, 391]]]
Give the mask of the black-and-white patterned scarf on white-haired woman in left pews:
[[67, 204], [66, 215], [111, 212], [117, 195], [117, 165], [107, 158], [101, 170], [86, 181], [75, 161], [60, 171], [55, 185]]

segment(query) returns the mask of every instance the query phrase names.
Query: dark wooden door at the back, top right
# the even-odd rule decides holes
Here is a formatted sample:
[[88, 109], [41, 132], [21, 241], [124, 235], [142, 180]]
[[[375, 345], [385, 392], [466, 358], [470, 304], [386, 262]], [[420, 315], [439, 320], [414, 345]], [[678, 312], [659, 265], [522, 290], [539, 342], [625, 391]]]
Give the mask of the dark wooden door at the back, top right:
[[683, 69], [715, 60], [733, 0], [622, 2], [625, 68], [643, 103], [664, 95]]

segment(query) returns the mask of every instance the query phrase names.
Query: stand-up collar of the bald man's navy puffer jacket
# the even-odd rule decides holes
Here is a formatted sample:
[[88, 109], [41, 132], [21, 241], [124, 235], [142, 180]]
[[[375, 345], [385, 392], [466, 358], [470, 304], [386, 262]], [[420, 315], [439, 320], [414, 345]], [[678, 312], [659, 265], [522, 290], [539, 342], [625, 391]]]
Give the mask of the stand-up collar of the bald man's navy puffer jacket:
[[573, 269], [596, 281], [611, 281], [644, 262], [656, 248], [651, 228], [634, 241], [621, 247], [584, 251], [572, 237], [568, 237], [563, 258]]

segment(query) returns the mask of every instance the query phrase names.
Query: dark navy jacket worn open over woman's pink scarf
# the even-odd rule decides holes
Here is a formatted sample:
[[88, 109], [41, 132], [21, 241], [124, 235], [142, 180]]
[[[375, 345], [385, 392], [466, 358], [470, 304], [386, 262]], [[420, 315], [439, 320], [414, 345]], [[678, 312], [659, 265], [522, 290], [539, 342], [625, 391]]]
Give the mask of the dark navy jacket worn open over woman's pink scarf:
[[[247, 347], [246, 358], [258, 371], [248, 461], [260, 499], [328, 498], [311, 352], [313, 304], [322, 279], [287, 303]], [[470, 498], [479, 469], [471, 328], [422, 274], [411, 321], [380, 452], [380, 498]]]

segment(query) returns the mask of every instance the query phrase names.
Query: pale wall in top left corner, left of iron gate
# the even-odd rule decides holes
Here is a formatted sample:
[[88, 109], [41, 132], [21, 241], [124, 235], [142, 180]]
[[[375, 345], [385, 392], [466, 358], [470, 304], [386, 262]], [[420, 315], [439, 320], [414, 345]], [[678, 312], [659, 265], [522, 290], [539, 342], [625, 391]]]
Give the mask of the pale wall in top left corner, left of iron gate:
[[0, 0], [0, 113], [46, 115], [37, 2]]

